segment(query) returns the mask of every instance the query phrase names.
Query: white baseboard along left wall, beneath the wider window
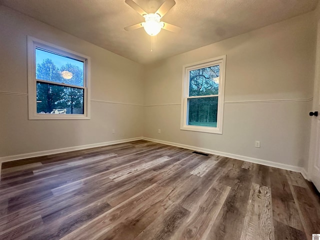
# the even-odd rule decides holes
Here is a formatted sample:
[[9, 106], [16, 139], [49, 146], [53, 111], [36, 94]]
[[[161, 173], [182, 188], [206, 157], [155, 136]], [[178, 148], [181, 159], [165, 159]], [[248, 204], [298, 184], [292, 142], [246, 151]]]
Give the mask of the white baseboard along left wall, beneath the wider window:
[[14, 161], [14, 160], [19, 160], [19, 159], [36, 157], [36, 156], [45, 156], [45, 155], [50, 155], [50, 154], [62, 153], [62, 152], [67, 152], [67, 151], [82, 150], [82, 149], [92, 148], [92, 147], [97, 147], [97, 146], [112, 145], [112, 144], [116, 144], [116, 143], [123, 143], [123, 142], [135, 141], [135, 140], [141, 140], [141, 139], [142, 139], [142, 137], [133, 137], [133, 138], [114, 140], [114, 141], [105, 141], [105, 142], [99, 142], [99, 143], [93, 143], [93, 144], [80, 145], [80, 146], [70, 146], [70, 147], [58, 148], [58, 149], [53, 149], [53, 150], [36, 151], [36, 152], [23, 153], [23, 154], [18, 154], [18, 155], [11, 155], [11, 156], [2, 156], [2, 157], [0, 157], [0, 163], [6, 162], [6, 161]]

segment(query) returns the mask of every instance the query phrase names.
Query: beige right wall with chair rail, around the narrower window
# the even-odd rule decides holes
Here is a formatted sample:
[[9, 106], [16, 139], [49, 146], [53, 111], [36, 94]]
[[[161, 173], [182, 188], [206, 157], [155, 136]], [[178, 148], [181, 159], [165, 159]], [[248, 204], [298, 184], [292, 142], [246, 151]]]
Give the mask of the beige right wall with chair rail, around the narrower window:
[[[146, 66], [144, 136], [303, 166], [315, 35], [310, 12]], [[182, 65], [223, 54], [223, 134], [180, 130]], [[260, 148], [254, 147], [255, 140], [261, 141]]]

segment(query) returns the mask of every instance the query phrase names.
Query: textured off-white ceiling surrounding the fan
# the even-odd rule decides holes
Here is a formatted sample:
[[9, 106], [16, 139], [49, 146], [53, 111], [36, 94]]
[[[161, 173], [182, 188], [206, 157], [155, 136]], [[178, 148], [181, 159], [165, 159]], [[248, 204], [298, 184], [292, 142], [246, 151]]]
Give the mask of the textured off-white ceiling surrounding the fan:
[[[140, 63], [192, 50], [316, 7], [318, 0], [175, 0], [162, 20], [182, 27], [151, 37], [143, 28], [123, 27], [143, 21], [124, 0], [0, 0], [0, 3], [79, 38]], [[155, 12], [164, 0], [135, 0]]]

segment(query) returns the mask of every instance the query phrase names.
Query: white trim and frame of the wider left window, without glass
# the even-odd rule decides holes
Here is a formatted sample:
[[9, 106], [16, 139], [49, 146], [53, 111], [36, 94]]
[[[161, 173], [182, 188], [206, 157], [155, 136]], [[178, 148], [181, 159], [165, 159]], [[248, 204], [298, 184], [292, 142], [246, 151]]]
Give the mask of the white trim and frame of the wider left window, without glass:
[[[36, 112], [35, 47], [41, 47], [72, 58], [84, 60], [84, 114], [40, 114]], [[28, 119], [90, 119], [90, 57], [75, 51], [27, 36]], [[82, 87], [80, 87], [82, 88]]]

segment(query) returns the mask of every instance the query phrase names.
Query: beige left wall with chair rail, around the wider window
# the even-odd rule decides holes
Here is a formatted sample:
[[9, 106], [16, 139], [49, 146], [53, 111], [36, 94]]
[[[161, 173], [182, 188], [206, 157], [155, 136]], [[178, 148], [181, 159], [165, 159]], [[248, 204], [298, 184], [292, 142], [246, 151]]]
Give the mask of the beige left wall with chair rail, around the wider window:
[[[26, 35], [90, 56], [90, 120], [28, 120]], [[142, 65], [4, 6], [0, 56], [0, 157], [142, 135]]]

